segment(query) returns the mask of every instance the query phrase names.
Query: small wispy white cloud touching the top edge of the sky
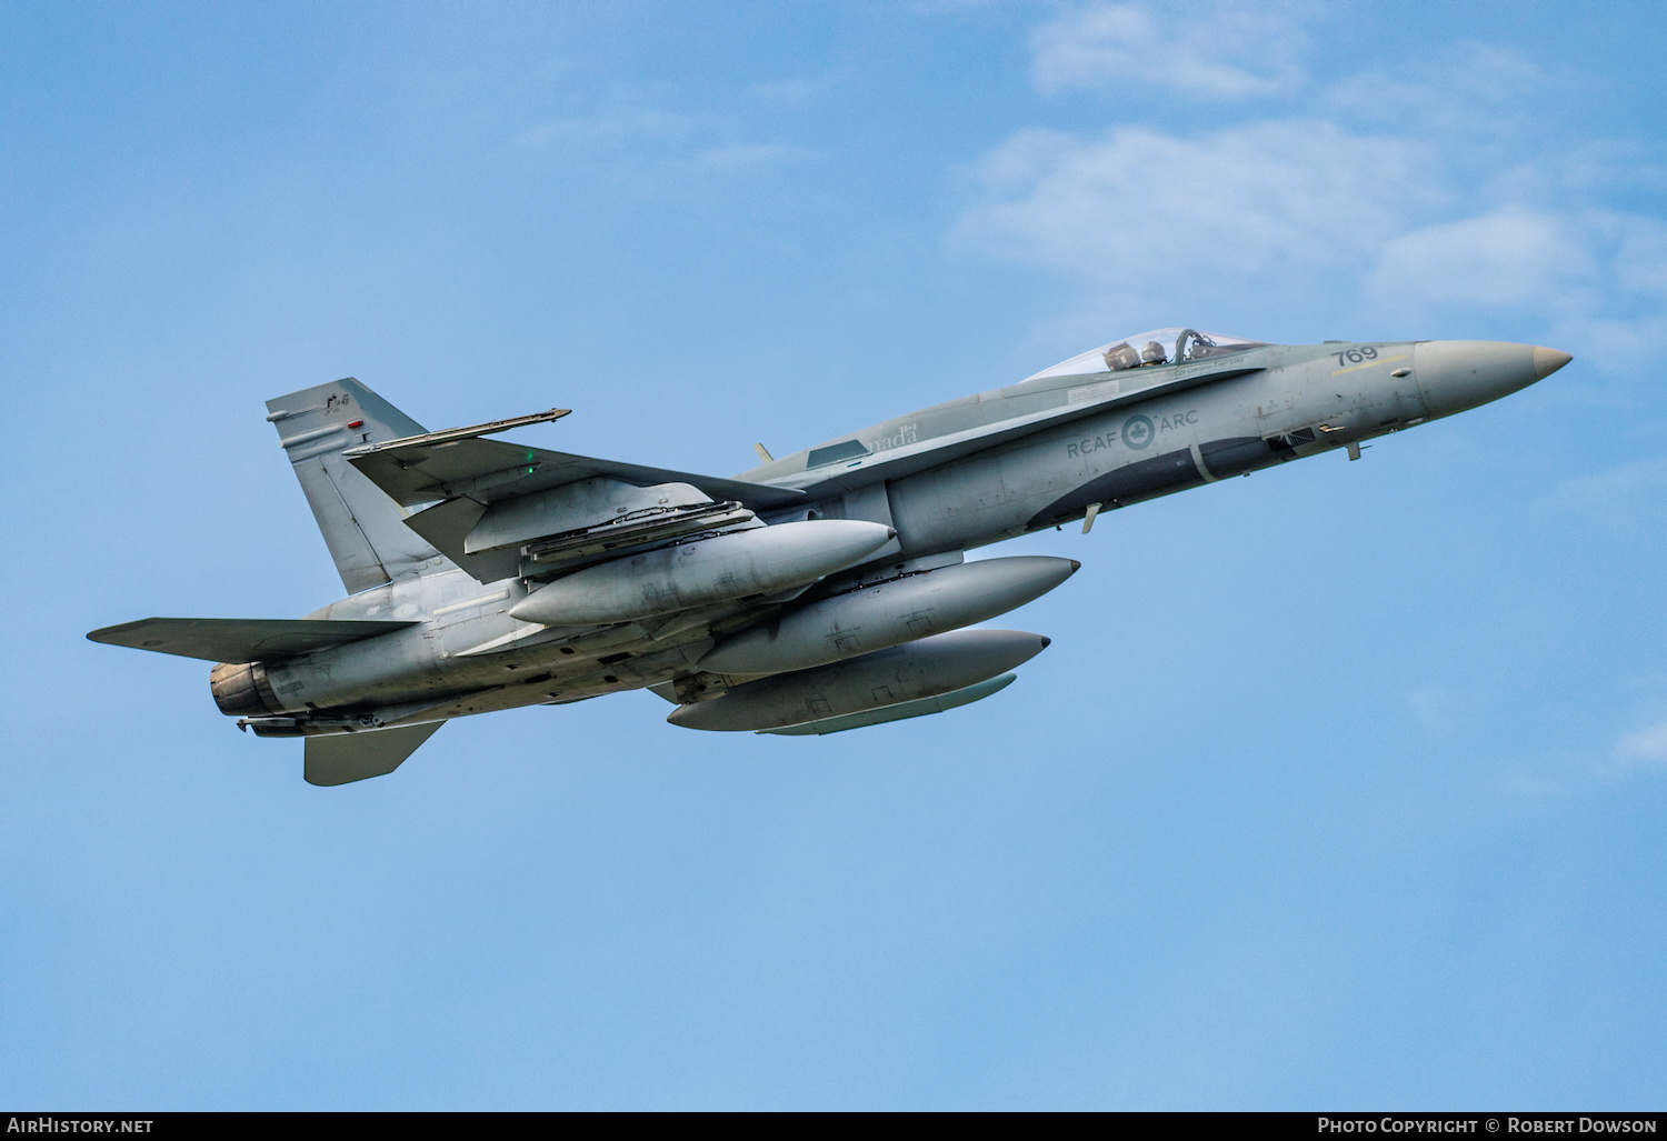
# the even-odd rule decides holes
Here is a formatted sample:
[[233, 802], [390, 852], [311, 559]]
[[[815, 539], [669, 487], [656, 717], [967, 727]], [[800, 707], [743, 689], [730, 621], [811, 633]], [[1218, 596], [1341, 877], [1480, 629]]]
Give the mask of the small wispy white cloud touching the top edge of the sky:
[[1270, 95], [1304, 78], [1302, 28], [1249, 5], [1095, 5], [1034, 33], [1032, 78], [1044, 92], [1162, 87], [1200, 98]]

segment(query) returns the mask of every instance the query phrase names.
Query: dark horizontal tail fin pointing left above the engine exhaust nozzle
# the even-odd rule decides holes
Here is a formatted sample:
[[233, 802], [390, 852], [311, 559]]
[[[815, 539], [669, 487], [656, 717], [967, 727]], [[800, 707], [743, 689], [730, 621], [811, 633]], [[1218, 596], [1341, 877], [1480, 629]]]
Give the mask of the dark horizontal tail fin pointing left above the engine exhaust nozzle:
[[[410, 621], [320, 621], [312, 618], [142, 618], [87, 635], [92, 641], [177, 653], [205, 661], [272, 661], [390, 635]], [[413, 746], [415, 748], [415, 746]]]

